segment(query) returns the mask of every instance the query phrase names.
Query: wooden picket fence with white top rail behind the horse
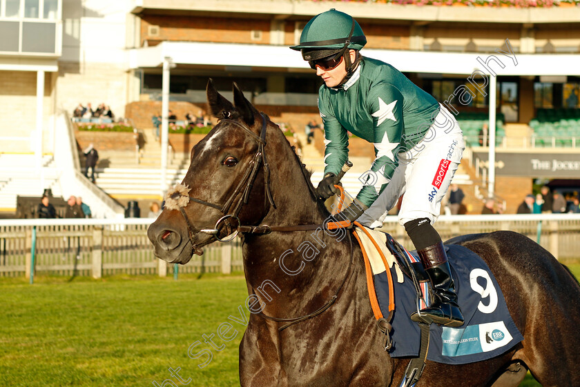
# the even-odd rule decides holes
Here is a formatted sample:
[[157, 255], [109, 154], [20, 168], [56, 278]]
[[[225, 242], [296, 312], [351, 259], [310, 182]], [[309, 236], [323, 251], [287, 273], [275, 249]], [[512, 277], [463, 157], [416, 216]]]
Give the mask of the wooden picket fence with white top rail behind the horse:
[[[155, 258], [147, 227], [153, 219], [14, 219], [0, 220], [0, 277], [50, 275], [165, 276], [173, 269]], [[580, 215], [454, 215], [435, 224], [443, 240], [458, 235], [512, 230], [527, 235], [561, 261], [580, 259]], [[396, 217], [387, 217], [384, 230], [412, 249]], [[32, 246], [35, 249], [32, 250]], [[180, 272], [242, 271], [239, 239], [212, 244], [194, 255]]]

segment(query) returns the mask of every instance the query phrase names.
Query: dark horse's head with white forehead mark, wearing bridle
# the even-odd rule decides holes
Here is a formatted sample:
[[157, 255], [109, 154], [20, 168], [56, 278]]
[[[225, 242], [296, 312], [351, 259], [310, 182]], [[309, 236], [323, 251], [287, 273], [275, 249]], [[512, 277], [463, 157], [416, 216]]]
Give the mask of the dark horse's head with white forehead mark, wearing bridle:
[[266, 158], [291, 152], [280, 128], [235, 83], [233, 97], [232, 104], [209, 81], [209, 107], [220, 122], [193, 147], [185, 178], [167, 193], [164, 211], [149, 226], [155, 255], [168, 262], [185, 264], [240, 224], [260, 223], [276, 206], [267, 183], [270, 169], [290, 173], [289, 167]]

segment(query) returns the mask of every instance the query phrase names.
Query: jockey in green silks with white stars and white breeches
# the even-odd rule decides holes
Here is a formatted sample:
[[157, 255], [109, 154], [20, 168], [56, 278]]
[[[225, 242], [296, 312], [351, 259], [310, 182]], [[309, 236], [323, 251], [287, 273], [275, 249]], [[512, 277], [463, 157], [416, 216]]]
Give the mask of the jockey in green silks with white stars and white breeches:
[[[370, 228], [383, 225], [388, 210], [405, 193], [398, 214], [431, 280], [435, 301], [421, 310], [436, 324], [463, 325], [441, 237], [433, 228], [441, 199], [465, 148], [457, 121], [434, 97], [383, 61], [360, 55], [367, 39], [348, 14], [331, 9], [302, 30], [300, 50], [322, 78], [318, 109], [325, 128], [325, 175], [316, 191], [322, 199], [348, 159], [348, 132], [374, 143], [375, 159], [354, 203], [336, 215]], [[411, 316], [422, 321], [417, 312]], [[428, 320], [428, 319], [427, 319]]]

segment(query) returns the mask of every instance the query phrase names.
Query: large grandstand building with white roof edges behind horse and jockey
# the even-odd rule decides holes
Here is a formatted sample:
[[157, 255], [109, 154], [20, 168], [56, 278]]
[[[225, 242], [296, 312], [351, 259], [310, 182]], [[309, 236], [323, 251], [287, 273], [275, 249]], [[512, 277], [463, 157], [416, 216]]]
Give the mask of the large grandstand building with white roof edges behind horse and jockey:
[[[563, 152], [574, 161], [580, 146], [580, 6], [574, 1], [510, 6], [506, 1], [90, 0], [81, 6], [55, 0], [39, 1], [39, 8], [25, 0], [12, 1], [17, 8], [5, 3], [0, 0], [0, 28], [18, 28], [0, 43], [4, 212], [13, 210], [17, 192], [39, 195], [50, 186], [69, 195], [88, 189], [80, 177], [61, 178], [70, 176], [67, 169], [77, 173], [80, 167], [57, 160], [61, 134], [68, 133], [68, 123], [59, 117], [79, 103], [106, 102], [117, 117], [131, 119], [139, 133], [153, 133], [152, 117], [162, 108], [163, 63], [170, 59], [166, 86], [177, 120], [189, 111], [206, 115], [204, 88], [212, 77], [226, 96], [237, 81], [260, 110], [302, 136], [305, 123], [318, 117], [320, 80], [288, 46], [314, 14], [332, 7], [359, 21], [368, 39], [363, 54], [396, 66], [455, 110], [470, 146], [467, 155], [487, 151], [483, 126], [494, 130], [498, 152], [516, 152], [525, 163], [542, 152]], [[34, 30], [39, 24], [43, 29]], [[492, 87], [497, 108], [490, 122]], [[139, 143], [137, 155], [134, 146], [107, 147], [97, 147], [107, 163], [97, 168], [93, 195], [161, 199], [162, 152], [153, 135]], [[73, 148], [68, 146], [70, 155]], [[170, 155], [164, 184], [181, 178], [189, 157]], [[322, 168], [318, 158], [305, 157], [315, 177]], [[459, 174], [473, 197], [473, 212], [489, 183], [489, 166], [483, 165], [467, 158]], [[497, 169], [494, 194], [513, 195], [514, 201], [531, 192], [534, 179], [561, 177], [557, 170], [503, 175], [506, 169]], [[514, 178], [521, 184], [504, 183]], [[93, 206], [106, 206], [105, 201]]]

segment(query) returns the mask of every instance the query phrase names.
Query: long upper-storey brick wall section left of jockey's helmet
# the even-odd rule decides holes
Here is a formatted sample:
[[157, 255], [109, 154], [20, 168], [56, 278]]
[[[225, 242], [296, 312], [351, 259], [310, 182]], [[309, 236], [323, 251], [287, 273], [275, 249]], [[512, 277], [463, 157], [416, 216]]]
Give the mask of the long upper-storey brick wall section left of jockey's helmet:
[[[159, 35], [148, 34], [149, 26], [159, 26]], [[262, 31], [252, 39], [252, 30]], [[223, 17], [182, 17], [143, 15], [141, 41], [213, 41], [222, 43], [270, 43], [270, 21], [264, 19], [226, 19]]]

